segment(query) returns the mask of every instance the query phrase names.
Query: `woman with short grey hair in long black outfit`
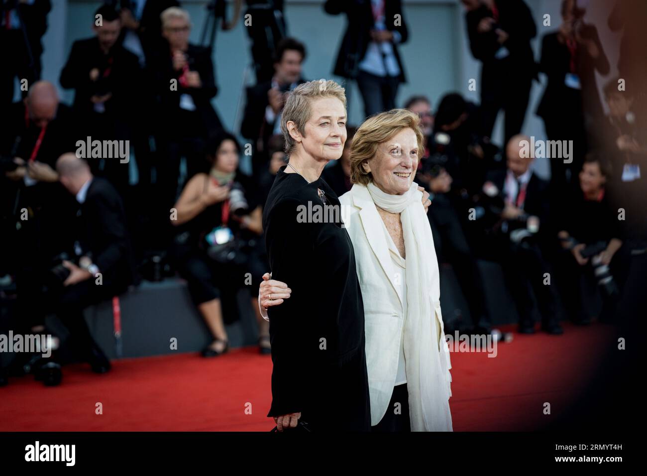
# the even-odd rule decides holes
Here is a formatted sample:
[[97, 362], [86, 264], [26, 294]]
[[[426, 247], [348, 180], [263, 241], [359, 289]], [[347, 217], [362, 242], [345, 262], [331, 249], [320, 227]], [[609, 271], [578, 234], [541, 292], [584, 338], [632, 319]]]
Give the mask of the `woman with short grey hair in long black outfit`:
[[[276, 174], [263, 229], [273, 277], [295, 292], [269, 310], [268, 416], [280, 431], [298, 420], [315, 431], [369, 431], [364, 306], [353, 245], [340, 216], [325, 222], [302, 214], [340, 205], [320, 175], [344, 148], [344, 89], [331, 80], [301, 84], [289, 93], [282, 118], [290, 162]], [[281, 297], [287, 295], [269, 299]]]

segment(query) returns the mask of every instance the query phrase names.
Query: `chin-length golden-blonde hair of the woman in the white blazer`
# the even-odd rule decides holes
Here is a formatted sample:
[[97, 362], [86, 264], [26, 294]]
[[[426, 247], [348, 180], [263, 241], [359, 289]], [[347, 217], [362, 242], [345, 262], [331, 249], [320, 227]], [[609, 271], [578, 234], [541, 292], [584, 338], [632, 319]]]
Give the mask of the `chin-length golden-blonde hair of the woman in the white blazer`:
[[366, 172], [362, 164], [375, 157], [377, 148], [382, 142], [403, 129], [410, 128], [415, 132], [418, 142], [418, 157], [424, 153], [424, 134], [420, 127], [420, 117], [408, 109], [391, 109], [375, 114], [366, 119], [353, 137], [351, 148], [351, 183], [368, 185], [373, 181], [371, 172]]

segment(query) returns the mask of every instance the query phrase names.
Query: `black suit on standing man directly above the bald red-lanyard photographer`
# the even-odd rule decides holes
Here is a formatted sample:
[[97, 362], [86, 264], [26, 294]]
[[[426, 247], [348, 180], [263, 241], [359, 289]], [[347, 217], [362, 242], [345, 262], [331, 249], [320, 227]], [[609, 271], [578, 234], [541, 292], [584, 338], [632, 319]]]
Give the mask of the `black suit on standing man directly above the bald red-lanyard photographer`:
[[[530, 97], [532, 78], [536, 78], [536, 64], [530, 45], [536, 35], [531, 12], [523, 0], [496, 0], [498, 27], [509, 38], [501, 45], [493, 28], [479, 33], [481, 19], [494, 17], [485, 5], [467, 12], [465, 21], [472, 55], [481, 61], [481, 108], [483, 135], [490, 137], [499, 109], [505, 110], [505, 141], [520, 133]], [[498, 59], [501, 46], [509, 52]]]

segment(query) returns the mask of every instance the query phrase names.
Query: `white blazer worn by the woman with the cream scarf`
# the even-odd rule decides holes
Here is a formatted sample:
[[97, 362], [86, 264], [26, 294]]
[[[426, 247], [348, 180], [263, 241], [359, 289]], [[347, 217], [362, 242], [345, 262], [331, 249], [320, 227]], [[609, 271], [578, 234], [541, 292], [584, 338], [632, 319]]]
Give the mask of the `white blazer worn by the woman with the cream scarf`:
[[[349, 192], [339, 198], [342, 204], [344, 225], [353, 242], [357, 276], [362, 288], [364, 301], [364, 320], [366, 329], [366, 365], [369, 393], [371, 398], [371, 425], [377, 425], [388, 410], [391, 394], [396, 383], [404, 309], [402, 300], [402, 269], [398, 269], [391, 258], [390, 250], [395, 245], [385, 234], [386, 227], [375, 207], [366, 187], [355, 184]], [[422, 200], [421, 200], [422, 202]], [[389, 243], [390, 242], [390, 243]], [[443, 339], [437, 345], [441, 349], [441, 368], [447, 387], [446, 394], [451, 396], [449, 352], [444, 340], [443, 316], [440, 305], [440, 279], [438, 262], [433, 251], [433, 241], [429, 243], [433, 255], [432, 293], [434, 318]], [[432, 345], [432, 343], [430, 343]], [[444, 391], [444, 389], [443, 389]], [[445, 395], [446, 395], [445, 394]], [[411, 399], [410, 395], [410, 399]], [[415, 396], [413, 396], [415, 398]], [[392, 409], [391, 409], [392, 410]], [[449, 417], [450, 418], [450, 417]], [[451, 422], [451, 420], [449, 420]], [[451, 423], [445, 430], [451, 431]]]

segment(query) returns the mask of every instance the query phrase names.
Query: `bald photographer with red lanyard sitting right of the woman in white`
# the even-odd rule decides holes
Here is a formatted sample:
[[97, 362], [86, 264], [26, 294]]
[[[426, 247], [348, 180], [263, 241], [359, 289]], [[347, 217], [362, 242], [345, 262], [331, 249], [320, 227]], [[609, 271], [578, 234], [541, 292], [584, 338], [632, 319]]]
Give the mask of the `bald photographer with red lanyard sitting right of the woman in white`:
[[540, 313], [542, 330], [549, 334], [563, 334], [556, 315], [556, 295], [553, 286], [544, 284], [545, 273], [550, 273], [545, 253], [554, 242], [549, 227], [549, 185], [532, 172], [532, 157], [523, 157], [524, 135], [510, 139], [506, 148], [507, 170], [494, 170], [483, 184], [486, 216], [485, 249], [503, 268], [510, 295], [516, 304], [520, 332], [532, 334], [532, 286]]

